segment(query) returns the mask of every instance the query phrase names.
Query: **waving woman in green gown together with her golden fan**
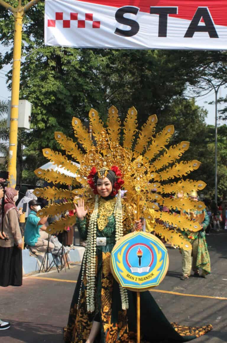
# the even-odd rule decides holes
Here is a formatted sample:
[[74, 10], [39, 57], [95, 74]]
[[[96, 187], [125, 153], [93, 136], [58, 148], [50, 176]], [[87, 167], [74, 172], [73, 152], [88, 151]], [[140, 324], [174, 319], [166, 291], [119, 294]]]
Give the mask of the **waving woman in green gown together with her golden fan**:
[[[144, 218], [151, 230], [155, 230], [170, 244], [189, 250], [191, 248], [189, 241], [180, 233], [165, 227], [163, 223], [166, 222], [173, 227], [178, 226], [180, 230], [187, 230], [191, 221], [182, 218], [181, 214], [174, 216], [172, 213], [160, 211], [160, 207], [167, 206], [172, 210], [180, 205], [179, 209], [184, 210], [184, 203], [179, 204], [178, 200], [172, 201], [167, 194], [185, 189], [189, 193], [192, 185], [196, 185], [196, 189], [201, 190], [205, 187], [205, 183], [182, 180], [183, 175], [188, 176], [190, 171], [198, 169], [200, 162], [192, 160], [176, 163], [176, 160], [187, 151], [189, 142], [180, 142], [167, 150], [165, 145], [169, 143], [174, 127], [166, 126], [153, 137], [157, 122], [156, 115], [149, 116], [140, 130], [137, 130], [137, 110], [134, 107], [128, 110], [122, 124], [114, 106], [108, 111], [107, 128], [94, 109], [89, 112], [89, 121], [94, 139], [78, 118], [72, 120], [77, 139], [75, 143], [62, 132], [54, 134], [56, 141], [66, 151], [66, 155], [73, 156], [79, 162], [79, 168], [73, 161], [68, 160], [66, 155], [63, 156], [48, 148], [43, 149], [43, 155], [47, 159], [57, 165], [64, 164], [74, 173], [74, 177], [48, 169], [35, 170], [38, 177], [49, 182], [71, 185], [72, 191], [45, 187], [37, 188], [34, 193], [47, 200], [63, 198], [67, 200], [61, 205], [46, 206], [40, 212], [42, 217], [72, 210], [73, 202], [76, 202], [75, 195], [83, 196], [75, 207], [77, 220], [74, 216], [68, 216], [50, 224], [47, 228], [49, 233], [55, 233], [63, 231], [65, 227], [72, 226], [77, 221], [81, 238], [87, 238], [68, 325], [64, 331], [65, 342], [92, 343], [94, 339], [110, 343], [129, 342], [130, 335], [134, 334], [135, 339], [137, 331], [137, 295], [136, 292], [122, 288], [115, 281], [110, 270], [111, 251], [124, 234], [141, 228], [135, 216]], [[177, 178], [180, 178], [178, 182], [169, 181]], [[121, 198], [123, 185], [127, 190], [127, 197], [124, 199]], [[190, 209], [199, 208], [197, 204], [190, 207]], [[162, 223], [158, 223], [157, 219], [162, 220]], [[193, 222], [191, 229], [198, 231], [199, 223]], [[141, 292], [140, 304], [141, 335], [148, 342], [163, 340], [185, 342], [199, 337], [212, 328], [211, 326], [189, 328], [169, 323], [148, 291]]]

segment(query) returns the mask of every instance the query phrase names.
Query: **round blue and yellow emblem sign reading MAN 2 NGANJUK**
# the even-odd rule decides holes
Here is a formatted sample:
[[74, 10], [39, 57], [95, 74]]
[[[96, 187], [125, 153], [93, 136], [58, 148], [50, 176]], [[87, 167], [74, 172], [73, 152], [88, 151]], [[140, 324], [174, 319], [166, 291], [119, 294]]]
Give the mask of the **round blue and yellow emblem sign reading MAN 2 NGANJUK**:
[[146, 232], [122, 237], [111, 253], [111, 270], [122, 287], [146, 291], [157, 286], [168, 270], [168, 252], [160, 239]]

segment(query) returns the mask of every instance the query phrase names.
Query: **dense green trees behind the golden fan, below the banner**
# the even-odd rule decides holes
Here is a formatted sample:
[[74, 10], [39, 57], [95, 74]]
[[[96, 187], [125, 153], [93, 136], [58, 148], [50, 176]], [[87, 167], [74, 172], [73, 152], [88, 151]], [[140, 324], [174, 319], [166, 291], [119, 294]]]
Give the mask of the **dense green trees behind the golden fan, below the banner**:
[[[8, 2], [17, 5], [14, 0]], [[0, 67], [12, 63], [13, 22], [13, 15], [0, 7], [0, 40], [9, 47], [0, 55]], [[191, 142], [186, 158], [206, 160], [206, 113], [184, 93], [188, 85], [200, 81], [212, 63], [225, 62], [225, 52], [45, 47], [43, 27], [44, 2], [39, 2], [23, 20], [20, 98], [33, 104], [32, 130], [23, 136], [24, 180], [35, 182], [32, 171], [46, 162], [41, 149], [59, 148], [54, 131], [73, 137], [72, 117], [79, 117], [86, 125], [91, 107], [105, 122], [111, 105], [118, 108], [121, 117], [135, 106], [139, 127], [155, 113], [157, 130], [174, 124], [173, 144]], [[11, 73], [8, 78], [10, 87]], [[199, 170], [196, 177], [209, 184], [209, 175], [203, 174], [206, 170]]]

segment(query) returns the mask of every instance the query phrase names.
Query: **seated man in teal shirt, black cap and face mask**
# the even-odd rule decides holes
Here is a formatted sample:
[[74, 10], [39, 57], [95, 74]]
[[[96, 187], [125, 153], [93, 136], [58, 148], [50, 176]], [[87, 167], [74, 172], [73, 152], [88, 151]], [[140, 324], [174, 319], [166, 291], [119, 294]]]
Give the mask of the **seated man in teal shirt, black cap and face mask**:
[[[32, 252], [45, 252], [48, 245], [48, 234], [46, 225], [48, 217], [40, 218], [37, 212], [41, 209], [37, 200], [30, 200], [28, 203], [30, 214], [27, 217], [25, 225], [24, 240]], [[52, 250], [54, 244], [49, 242], [49, 247]]]

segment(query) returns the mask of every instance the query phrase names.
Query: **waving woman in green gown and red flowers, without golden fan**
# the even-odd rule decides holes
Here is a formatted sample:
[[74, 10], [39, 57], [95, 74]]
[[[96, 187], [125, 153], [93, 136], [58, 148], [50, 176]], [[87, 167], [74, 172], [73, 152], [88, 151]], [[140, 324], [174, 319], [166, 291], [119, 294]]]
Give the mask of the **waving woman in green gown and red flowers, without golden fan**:
[[[116, 282], [110, 270], [110, 257], [116, 241], [123, 234], [140, 230], [141, 223], [127, 224], [130, 214], [122, 206], [121, 171], [116, 166], [99, 173], [92, 169], [88, 182], [97, 194], [93, 211], [88, 215], [82, 199], [75, 205], [80, 237], [88, 243], [64, 328], [64, 341], [135, 342], [136, 292], [127, 291]], [[141, 292], [140, 303], [141, 337], [147, 342], [186, 342], [212, 329], [211, 325], [191, 328], [170, 323], [149, 291]]]

